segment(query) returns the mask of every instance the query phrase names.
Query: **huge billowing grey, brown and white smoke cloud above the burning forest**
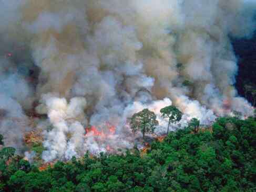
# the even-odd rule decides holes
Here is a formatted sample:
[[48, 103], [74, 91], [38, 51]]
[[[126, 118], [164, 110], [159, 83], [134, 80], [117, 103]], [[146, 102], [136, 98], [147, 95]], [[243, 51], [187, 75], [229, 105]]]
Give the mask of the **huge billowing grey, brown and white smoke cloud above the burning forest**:
[[[160, 108], [171, 104], [184, 114], [181, 128], [193, 117], [209, 125], [234, 110], [252, 115], [233, 86], [238, 66], [229, 37], [251, 37], [254, 2], [0, 3], [0, 133], [9, 145], [22, 149], [24, 131], [40, 128], [43, 159], [68, 160], [132, 147], [128, 118], [143, 108], [156, 112], [157, 134], [167, 123]], [[38, 126], [28, 126], [31, 111]], [[117, 129], [107, 141], [85, 135], [85, 127], [106, 123]]]

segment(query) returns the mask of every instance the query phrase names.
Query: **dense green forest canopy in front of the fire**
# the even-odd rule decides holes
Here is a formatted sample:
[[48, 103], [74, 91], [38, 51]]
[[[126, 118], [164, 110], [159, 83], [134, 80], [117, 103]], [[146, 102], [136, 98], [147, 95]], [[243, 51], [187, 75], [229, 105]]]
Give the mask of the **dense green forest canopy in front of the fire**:
[[3, 191], [256, 191], [253, 118], [219, 118], [209, 129], [170, 132], [145, 155], [136, 149], [85, 155], [42, 172], [10, 150], [1, 151], [6, 152], [12, 157], [0, 160]]

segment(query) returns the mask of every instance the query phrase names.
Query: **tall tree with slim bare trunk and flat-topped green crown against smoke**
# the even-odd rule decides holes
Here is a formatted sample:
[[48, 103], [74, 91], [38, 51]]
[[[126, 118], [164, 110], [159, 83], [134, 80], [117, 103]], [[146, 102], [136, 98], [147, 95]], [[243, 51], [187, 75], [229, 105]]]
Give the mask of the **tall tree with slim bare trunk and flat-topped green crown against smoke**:
[[167, 127], [167, 134], [168, 134], [170, 123], [175, 123], [180, 121], [182, 117], [182, 112], [179, 109], [177, 109], [175, 106], [168, 106], [168, 107], [162, 108], [160, 112], [163, 118], [169, 118], [168, 127]]

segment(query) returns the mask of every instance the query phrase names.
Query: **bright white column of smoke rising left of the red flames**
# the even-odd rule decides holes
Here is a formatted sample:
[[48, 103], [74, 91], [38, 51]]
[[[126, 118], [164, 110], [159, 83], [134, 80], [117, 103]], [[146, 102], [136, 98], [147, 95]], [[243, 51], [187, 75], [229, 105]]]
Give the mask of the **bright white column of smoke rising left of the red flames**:
[[[65, 98], [44, 95], [42, 104], [37, 108], [38, 113], [47, 111], [53, 128], [45, 131], [44, 146], [47, 149], [42, 156], [45, 161], [54, 159], [71, 159], [77, 156], [77, 151], [83, 145], [85, 129], [81, 123], [85, 122], [84, 109], [86, 100], [74, 97], [69, 104]], [[67, 135], [70, 134], [68, 138]]]

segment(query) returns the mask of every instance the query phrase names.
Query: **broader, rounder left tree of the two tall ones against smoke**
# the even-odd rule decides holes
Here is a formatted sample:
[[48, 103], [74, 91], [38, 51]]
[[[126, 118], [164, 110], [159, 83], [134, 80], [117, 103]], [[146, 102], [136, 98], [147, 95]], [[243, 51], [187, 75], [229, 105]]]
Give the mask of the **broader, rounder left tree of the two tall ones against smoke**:
[[143, 109], [142, 111], [137, 112], [131, 117], [130, 125], [132, 132], [136, 133], [140, 130], [143, 134], [143, 139], [145, 140], [145, 133], [153, 133], [158, 125], [156, 118], [155, 113], [148, 109]]

